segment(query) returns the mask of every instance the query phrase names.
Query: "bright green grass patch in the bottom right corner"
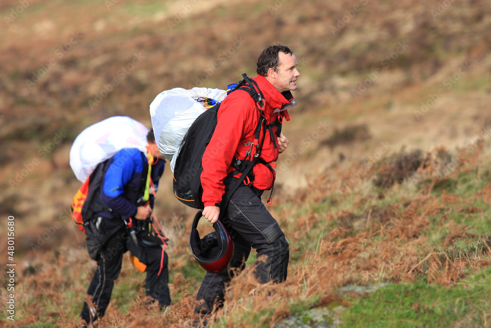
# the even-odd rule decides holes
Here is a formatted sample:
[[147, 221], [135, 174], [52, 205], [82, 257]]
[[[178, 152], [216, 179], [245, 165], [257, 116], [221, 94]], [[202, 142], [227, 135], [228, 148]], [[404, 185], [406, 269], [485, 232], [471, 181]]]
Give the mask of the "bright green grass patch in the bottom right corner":
[[491, 268], [482, 269], [453, 287], [421, 281], [388, 285], [354, 299], [341, 320], [345, 327], [448, 327], [463, 321], [480, 326], [491, 305], [490, 274]]

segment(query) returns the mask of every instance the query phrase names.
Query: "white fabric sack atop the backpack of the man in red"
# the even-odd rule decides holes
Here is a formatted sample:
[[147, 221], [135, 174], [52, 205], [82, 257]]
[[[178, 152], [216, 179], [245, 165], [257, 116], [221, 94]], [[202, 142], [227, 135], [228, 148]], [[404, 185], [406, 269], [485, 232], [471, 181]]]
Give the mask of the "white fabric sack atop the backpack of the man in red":
[[[172, 161], [192, 122], [206, 111], [196, 99], [206, 97], [221, 101], [226, 96], [225, 92], [221, 89], [174, 88], [165, 90], [155, 97], [150, 104], [150, 117], [157, 146], [165, 158]], [[173, 165], [171, 170], [174, 172]]]

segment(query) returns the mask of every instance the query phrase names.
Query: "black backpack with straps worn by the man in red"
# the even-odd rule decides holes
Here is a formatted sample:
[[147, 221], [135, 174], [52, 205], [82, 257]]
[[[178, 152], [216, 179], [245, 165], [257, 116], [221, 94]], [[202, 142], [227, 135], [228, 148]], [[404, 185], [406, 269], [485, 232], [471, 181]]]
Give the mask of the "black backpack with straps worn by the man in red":
[[[266, 130], [270, 129], [270, 131], [272, 131], [271, 126], [278, 125], [276, 134], [279, 135], [281, 132], [281, 123], [279, 121], [275, 121], [272, 124], [266, 124], [266, 118], [262, 110], [265, 105], [264, 96], [257, 86], [257, 83], [250, 79], [245, 73], [242, 74], [242, 76], [244, 77], [244, 80], [239, 82], [230, 92], [239, 89], [246, 90], [252, 99], [254, 99], [261, 117], [255, 131], [255, 143], [251, 144], [250, 151], [248, 151], [246, 158], [234, 159], [233, 165], [237, 170], [232, 172], [230, 175], [236, 175], [238, 173], [241, 173], [242, 175], [236, 184], [232, 186], [230, 192], [227, 193], [228, 198], [222, 200], [221, 208], [224, 208], [227, 205], [230, 196], [235, 192], [235, 190], [237, 190], [240, 183], [246, 179], [249, 172], [252, 172], [252, 166], [257, 161], [261, 160], [259, 159], [259, 153], [263, 145]], [[258, 91], [256, 91], [254, 87]], [[219, 108], [220, 103], [217, 103], [215, 106], [208, 109], [194, 120], [188, 132], [184, 136], [183, 141], [181, 142], [174, 166], [174, 195], [179, 201], [195, 209], [204, 208], [204, 204], [201, 201], [201, 196], [203, 195], [203, 187], [201, 186], [201, 172], [203, 171], [203, 166], [201, 165], [201, 159], [203, 158], [203, 153], [205, 152], [206, 146], [210, 142], [217, 126], [217, 114]], [[264, 133], [263, 140], [259, 143], [258, 139], [261, 128], [263, 129]], [[272, 139], [274, 147], [276, 148], [277, 146], [273, 136]], [[265, 164], [270, 168], [270, 170], [273, 170], [268, 163]], [[223, 210], [221, 210], [220, 213], [223, 213]]]

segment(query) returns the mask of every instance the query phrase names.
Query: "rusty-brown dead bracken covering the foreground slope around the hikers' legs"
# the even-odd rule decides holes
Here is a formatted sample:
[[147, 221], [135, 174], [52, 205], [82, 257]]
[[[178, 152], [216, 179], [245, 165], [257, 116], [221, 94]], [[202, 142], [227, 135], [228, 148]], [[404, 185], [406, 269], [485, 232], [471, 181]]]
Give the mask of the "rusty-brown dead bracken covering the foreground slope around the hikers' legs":
[[[462, 158], [462, 170], [472, 161], [471, 155]], [[334, 169], [334, 172], [337, 170], [340, 168]], [[312, 186], [323, 186], [326, 179], [327, 176], [318, 179]], [[363, 193], [363, 190], [358, 188], [361, 183], [354, 186], [356, 194], [359, 195]], [[488, 193], [488, 189], [488, 186], [485, 186], [476, 196], [483, 197]], [[321, 199], [322, 203], [322, 199], [327, 199], [332, 193], [331, 190], [323, 188], [308, 188], [301, 192], [303, 201], [288, 196], [285, 196], [285, 201], [298, 209], [308, 208], [307, 204], [318, 203], [316, 199]], [[359, 203], [367, 204], [362, 199]], [[336, 289], [351, 282], [399, 283], [426, 276], [428, 283], [445, 286], [455, 284], [467, 273], [491, 265], [491, 261], [482, 257], [488, 252], [490, 243], [486, 240], [488, 247], [481, 243], [479, 247], [484, 248], [479, 250], [479, 253], [457, 256], [431, 248], [421, 249], [425, 242], [423, 232], [432, 229], [429, 218], [440, 213], [444, 214], [441, 214], [439, 225], [449, 232], [441, 239], [443, 247], [451, 247], [457, 239], [475, 237], [466, 232], [468, 226], [456, 224], [447, 217], [445, 213], [450, 211], [449, 207], [464, 213], [479, 210], [468, 208], [468, 202], [457, 195], [444, 193], [441, 197], [436, 197], [425, 192], [420, 197], [394, 202], [387, 209], [365, 207], [362, 214], [355, 214], [349, 209], [337, 213], [318, 213], [310, 210], [298, 216], [287, 209], [275, 212], [280, 226], [288, 227], [292, 222], [297, 226], [288, 234], [288, 238], [291, 245], [298, 245], [292, 247], [291, 254], [295, 258], [300, 257], [299, 260], [292, 262], [289, 277], [281, 285], [258, 284], [253, 278], [253, 268], [250, 266], [237, 273], [227, 287], [225, 307], [218, 311], [216, 319], [228, 318], [228, 327], [252, 327], [250, 318], [238, 316], [238, 313], [242, 312], [241, 309], [252, 309], [254, 312], [262, 309], [263, 304], [275, 304], [273, 313], [260, 318], [263, 323], [273, 327], [274, 323], [290, 315], [289, 301], [307, 300], [316, 296], [318, 301], [314, 306], [333, 301], [342, 302], [336, 294]], [[169, 249], [172, 254], [170, 271], [173, 275], [171, 294], [174, 297], [180, 295], [180, 298], [164, 313], [160, 313], [155, 306], [145, 305], [148, 299], [144, 297], [143, 285], [139, 281], [142, 276], [131, 273], [134, 269], [125, 261], [119, 281], [133, 281], [138, 290], [136, 300], [130, 304], [124, 315], [121, 315], [117, 306], [109, 306], [99, 327], [185, 327], [194, 319], [192, 310], [196, 303], [189, 290], [195, 288], [199, 282], [185, 279], [180, 272], [184, 266], [190, 264], [187, 236], [190, 225], [188, 221], [191, 218], [184, 222], [181, 222], [181, 219], [182, 217], [175, 219], [167, 225], [168, 235], [172, 236], [172, 246]], [[338, 227], [327, 229], [321, 234], [317, 246], [301, 246], [301, 242], [304, 242], [312, 231], [334, 222], [337, 222]], [[44, 306], [26, 309], [25, 317], [16, 321], [15, 325], [20, 327], [40, 320], [53, 322], [50, 318], [61, 316], [57, 325], [72, 327], [76, 320], [73, 314], [68, 315], [66, 312], [63, 304], [67, 298], [64, 293], [68, 290], [73, 291], [78, 294], [75, 298], [82, 300], [85, 284], [94, 268], [93, 261], [88, 258], [83, 247], [69, 245], [64, 245], [55, 252], [36, 254], [36, 259], [33, 260], [35, 273], [26, 272], [20, 279], [23, 286], [21, 295], [37, 299], [39, 303], [49, 301], [59, 304], [60, 308], [49, 312], [46, 312]], [[113, 300], [113, 304], [115, 301]]]

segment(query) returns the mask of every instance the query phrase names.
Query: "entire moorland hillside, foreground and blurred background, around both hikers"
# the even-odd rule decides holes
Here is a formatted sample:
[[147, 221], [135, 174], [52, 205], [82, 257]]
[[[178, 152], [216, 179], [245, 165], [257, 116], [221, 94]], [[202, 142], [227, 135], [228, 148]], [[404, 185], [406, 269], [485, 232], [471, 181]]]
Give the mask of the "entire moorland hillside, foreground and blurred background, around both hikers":
[[[115, 115], [150, 126], [161, 91], [254, 76], [259, 53], [278, 42], [301, 73], [271, 207], [291, 245], [289, 278], [259, 287], [246, 270], [216, 326], [271, 327], [336, 304], [347, 327], [489, 326], [490, 9], [484, 0], [2, 1], [0, 254], [12, 215], [19, 270], [16, 321], [0, 320], [77, 320], [95, 266], [67, 212], [80, 186], [68, 164], [75, 137]], [[187, 245], [193, 210], [173, 198], [170, 170], [161, 183], [173, 305], [145, 309], [143, 276], [124, 261], [102, 327], [191, 318], [203, 276]], [[390, 285], [338, 294], [373, 282]]]

